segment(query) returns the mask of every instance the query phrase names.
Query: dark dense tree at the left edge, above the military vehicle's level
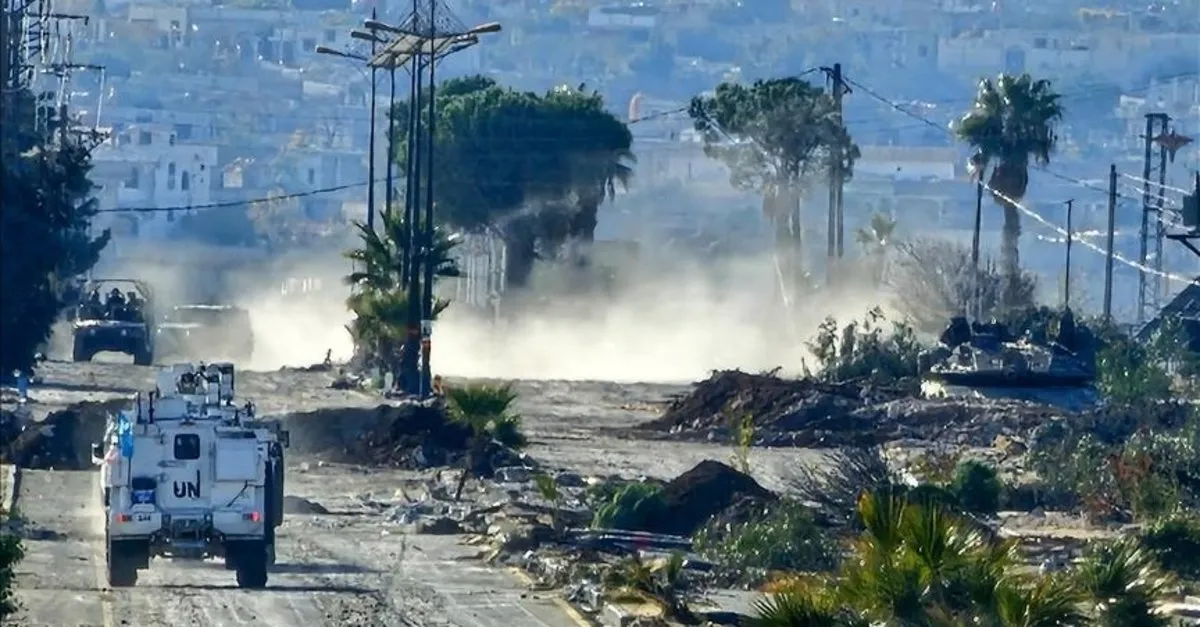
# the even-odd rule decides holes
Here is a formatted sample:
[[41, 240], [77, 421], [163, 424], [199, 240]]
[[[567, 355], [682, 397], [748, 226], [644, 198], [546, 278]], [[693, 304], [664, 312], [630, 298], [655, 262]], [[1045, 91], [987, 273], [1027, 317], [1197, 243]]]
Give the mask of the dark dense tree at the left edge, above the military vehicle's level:
[[[0, 90], [0, 372], [28, 370], [108, 243], [89, 233], [96, 202], [88, 147], [34, 127], [26, 90]], [[14, 126], [10, 120], [19, 120]], [[65, 141], [64, 141], [64, 137]]]

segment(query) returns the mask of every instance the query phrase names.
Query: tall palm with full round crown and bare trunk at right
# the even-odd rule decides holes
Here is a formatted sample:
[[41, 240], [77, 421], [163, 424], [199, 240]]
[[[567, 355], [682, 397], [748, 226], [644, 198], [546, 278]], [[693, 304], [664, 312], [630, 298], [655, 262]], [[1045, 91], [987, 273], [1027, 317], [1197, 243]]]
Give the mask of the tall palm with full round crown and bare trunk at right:
[[979, 82], [974, 104], [955, 129], [959, 139], [974, 150], [968, 162], [971, 173], [980, 180], [986, 178], [992, 198], [1004, 209], [1001, 264], [1006, 307], [1020, 305], [1018, 205], [1028, 190], [1031, 160], [1049, 163], [1055, 151], [1055, 125], [1063, 118], [1061, 100], [1049, 80], [1034, 80], [1030, 74], [985, 78]]

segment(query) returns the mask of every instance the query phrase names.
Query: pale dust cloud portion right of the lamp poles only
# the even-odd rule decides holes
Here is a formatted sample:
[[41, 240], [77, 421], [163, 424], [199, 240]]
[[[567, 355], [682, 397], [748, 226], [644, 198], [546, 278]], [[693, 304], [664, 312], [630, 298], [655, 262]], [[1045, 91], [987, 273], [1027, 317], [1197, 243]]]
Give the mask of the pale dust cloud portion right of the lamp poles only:
[[498, 327], [451, 305], [434, 327], [434, 370], [616, 382], [689, 382], [722, 368], [798, 372], [814, 365], [805, 341], [826, 316], [860, 318], [877, 305], [866, 288], [814, 297], [785, 316], [773, 268], [769, 257], [677, 265], [614, 295], [566, 297]]

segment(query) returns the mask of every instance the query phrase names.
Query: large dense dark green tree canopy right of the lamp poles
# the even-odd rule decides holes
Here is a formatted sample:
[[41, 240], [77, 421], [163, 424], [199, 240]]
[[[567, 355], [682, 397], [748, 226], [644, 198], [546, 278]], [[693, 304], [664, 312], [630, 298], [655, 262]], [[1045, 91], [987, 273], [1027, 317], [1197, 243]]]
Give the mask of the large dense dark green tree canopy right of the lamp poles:
[[[539, 252], [592, 240], [600, 205], [631, 177], [632, 135], [583, 85], [534, 94], [482, 76], [454, 78], [438, 85], [436, 107], [438, 221], [503, 232], [511, 285], [524, 283]], [[408, 103], [394, 115], [403, 166]]]

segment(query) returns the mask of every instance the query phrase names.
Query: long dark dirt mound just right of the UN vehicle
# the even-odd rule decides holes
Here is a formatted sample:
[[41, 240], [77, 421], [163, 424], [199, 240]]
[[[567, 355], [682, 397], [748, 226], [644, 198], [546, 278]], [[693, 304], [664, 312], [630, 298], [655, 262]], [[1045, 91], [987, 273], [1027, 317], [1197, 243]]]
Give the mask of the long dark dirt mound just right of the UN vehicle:
[[469, 437], [440, 406], [422, 402], [317, 410], [289, 414], [283, 424], [293, 453], [409, 468], [455, 461]]

